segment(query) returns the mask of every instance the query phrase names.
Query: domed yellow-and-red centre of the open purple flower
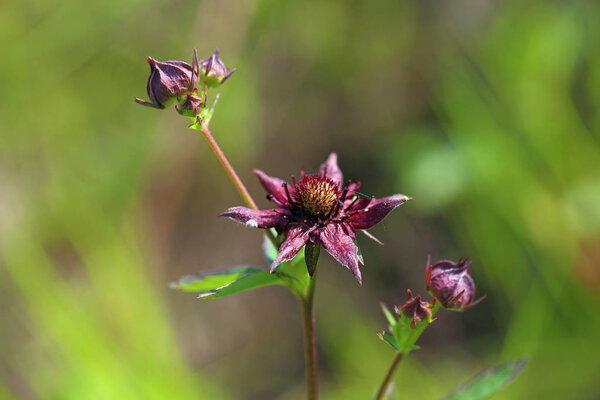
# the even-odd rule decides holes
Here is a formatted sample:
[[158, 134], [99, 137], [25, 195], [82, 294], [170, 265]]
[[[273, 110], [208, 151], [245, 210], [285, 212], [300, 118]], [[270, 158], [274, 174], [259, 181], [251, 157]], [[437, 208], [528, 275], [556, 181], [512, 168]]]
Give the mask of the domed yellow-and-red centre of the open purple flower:
[[296, 184], [296, 203], [311, 216], [327, 215], [338, 197], [337, 185], [320, 175], [307, 175]]

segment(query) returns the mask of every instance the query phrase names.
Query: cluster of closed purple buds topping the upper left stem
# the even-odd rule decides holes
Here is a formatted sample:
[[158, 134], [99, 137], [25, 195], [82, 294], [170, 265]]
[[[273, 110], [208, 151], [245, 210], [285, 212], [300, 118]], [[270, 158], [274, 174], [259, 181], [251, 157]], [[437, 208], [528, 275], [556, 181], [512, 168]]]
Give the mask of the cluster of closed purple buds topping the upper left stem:
[[157, 61], [148, 57], [150, 76], [146, 91], [150, 101], [135, 98], [136, 103], [158, 109], [176, 102], [175, 109], [183, 116], [204, 118], [208, 112], [208, 89], [218, 87], [234, 72], [227, 69], [215, 50], [208, 58], [198, 60], [194, 50], [192, 64], [185, 61]]

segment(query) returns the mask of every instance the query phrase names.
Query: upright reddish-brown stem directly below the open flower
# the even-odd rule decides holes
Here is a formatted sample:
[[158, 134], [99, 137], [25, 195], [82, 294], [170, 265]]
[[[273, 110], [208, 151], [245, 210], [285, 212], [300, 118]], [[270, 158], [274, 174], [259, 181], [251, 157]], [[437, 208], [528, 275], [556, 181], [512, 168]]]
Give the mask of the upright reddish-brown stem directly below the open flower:
[[319, 398], [319, 372], [317, 365], [317, 337], [313, 310], [317, 271], [313, 273], [306, 296], [302, 300], [304, 311], [304, 358], [306, 363], [306, 396], [308, 400]]

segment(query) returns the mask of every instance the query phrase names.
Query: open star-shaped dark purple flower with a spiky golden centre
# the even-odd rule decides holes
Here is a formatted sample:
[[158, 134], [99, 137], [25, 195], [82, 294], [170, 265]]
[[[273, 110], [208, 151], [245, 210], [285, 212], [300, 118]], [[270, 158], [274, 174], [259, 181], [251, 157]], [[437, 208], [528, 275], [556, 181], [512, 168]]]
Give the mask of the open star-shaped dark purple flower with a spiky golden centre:
[[323, 246], [360, 283], [359, 264], [364, 262], [356, 245], [356, 231], [378, 224], [390, 211], [411, 199], [403, 194], [366, 198], [358, 192], [359, 182], [349, 181], [344, 186], [335, 153], [321, 166], [319, 174], [306, 175], [302, 171], [300, 180], [292, 178], [291, 185], [260, 170], [254, 173], [268, 192], [267, 198], [277, 207], [270, 210], [234, 207], [222, 216], [253, 228], [275, 228], [285, 234], [271, 271], [310, 243]]

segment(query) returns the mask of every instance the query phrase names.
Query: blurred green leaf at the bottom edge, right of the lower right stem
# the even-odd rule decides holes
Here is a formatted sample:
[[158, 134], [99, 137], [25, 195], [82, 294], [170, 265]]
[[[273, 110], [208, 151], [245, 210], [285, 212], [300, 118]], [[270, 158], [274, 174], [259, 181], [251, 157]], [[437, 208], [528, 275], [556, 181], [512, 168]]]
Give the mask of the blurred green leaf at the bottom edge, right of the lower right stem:
[[488, 368], [477, 374], [469, 382], [456, 388], [444, 400], [487, 399], [521, 372], [526, 360], [514, 360], [495, 368]]

